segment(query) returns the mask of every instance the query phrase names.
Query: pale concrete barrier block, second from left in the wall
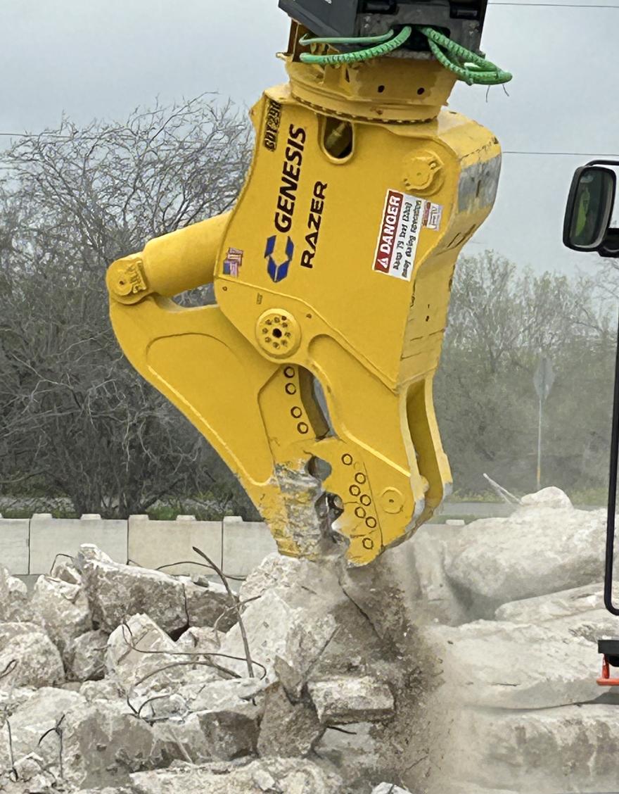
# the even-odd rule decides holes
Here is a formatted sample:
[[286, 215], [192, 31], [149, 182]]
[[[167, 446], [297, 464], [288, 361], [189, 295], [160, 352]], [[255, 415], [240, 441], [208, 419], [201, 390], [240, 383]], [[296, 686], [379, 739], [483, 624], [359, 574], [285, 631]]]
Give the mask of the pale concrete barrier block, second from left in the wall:
[[52, 518], [36, 513], [30, 519], [29, 573], [49, 573], [56, 554], [75, 557], [83, 543], [94, 543], [117, 562], [127, 561], [127, 522], [101, 518]]

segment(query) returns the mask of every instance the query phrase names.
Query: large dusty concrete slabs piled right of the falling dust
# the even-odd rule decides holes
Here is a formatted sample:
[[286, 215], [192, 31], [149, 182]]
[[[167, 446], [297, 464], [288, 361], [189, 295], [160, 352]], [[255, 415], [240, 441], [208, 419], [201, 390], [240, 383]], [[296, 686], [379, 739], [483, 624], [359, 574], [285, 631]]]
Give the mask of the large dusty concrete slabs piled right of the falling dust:
[[458, 704], [442, 769], [463, 794], [619, 791], [619, 694], [595, 681], [597, 640], [619, 637], [605, 533], [606, 511], [544, 488], [509, 518], [441, 528], [434, 564], [419, 557], [440, 700]]

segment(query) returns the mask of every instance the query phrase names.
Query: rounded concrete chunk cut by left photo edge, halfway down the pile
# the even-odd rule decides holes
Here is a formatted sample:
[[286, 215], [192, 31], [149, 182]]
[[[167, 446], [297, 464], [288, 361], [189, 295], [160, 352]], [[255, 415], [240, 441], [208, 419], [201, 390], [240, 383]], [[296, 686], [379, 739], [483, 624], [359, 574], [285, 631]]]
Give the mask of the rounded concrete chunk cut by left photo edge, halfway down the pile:
[[35, 623], [0, 623], [0, 691], [64, 680], [60, 652]]

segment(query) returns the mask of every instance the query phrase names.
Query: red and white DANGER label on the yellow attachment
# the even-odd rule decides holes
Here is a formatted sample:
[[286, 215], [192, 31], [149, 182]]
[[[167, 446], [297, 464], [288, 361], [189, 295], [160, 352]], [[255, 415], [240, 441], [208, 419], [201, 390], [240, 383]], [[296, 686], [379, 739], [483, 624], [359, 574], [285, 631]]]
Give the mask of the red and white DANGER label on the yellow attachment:
[[[410, 281], [413, 275], [419, 233], [428, 221], [425, 198], [400, 191], [387, 191], [383, 223], [376, 244], [374, 269], [387, 276]], [[437, 207], [438, 205], [433, 205]], [[436, 216], [435, 216], [436, 217]], [[440, 214], [438, 217], [440, 224]], [[436, 227], [430, 227], [436, 228]]]

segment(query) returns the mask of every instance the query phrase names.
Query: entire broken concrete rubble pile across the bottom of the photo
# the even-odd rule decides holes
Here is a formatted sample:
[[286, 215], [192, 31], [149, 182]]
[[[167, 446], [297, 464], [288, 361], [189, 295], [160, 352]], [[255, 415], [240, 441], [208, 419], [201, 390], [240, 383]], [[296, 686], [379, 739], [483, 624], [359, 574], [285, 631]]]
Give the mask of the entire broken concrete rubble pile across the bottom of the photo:
[[236, 593], [92, 545], [30, 596], [0, 569], [0, 791], [619, 790], [603, 549], [603, 511], [547, 488], [366, 569], [272, 554]]

